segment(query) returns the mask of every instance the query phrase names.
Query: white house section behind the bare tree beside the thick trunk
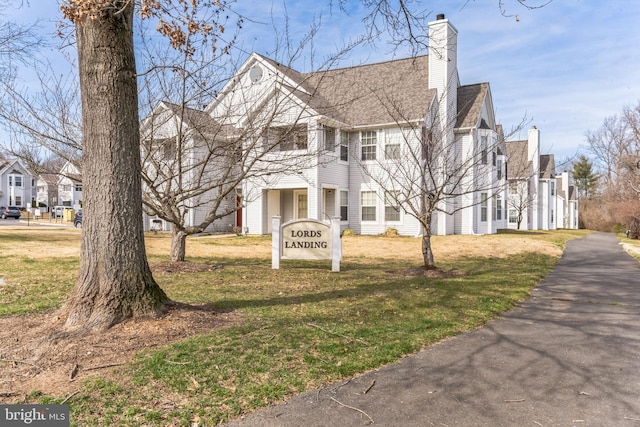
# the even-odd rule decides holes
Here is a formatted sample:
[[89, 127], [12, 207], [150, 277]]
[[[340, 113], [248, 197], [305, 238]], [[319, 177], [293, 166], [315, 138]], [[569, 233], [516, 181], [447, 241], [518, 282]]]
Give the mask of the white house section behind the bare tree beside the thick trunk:
[[[217, 212], [230, 212], [204, 231], [231, 232], [242, 226], [235, 188], [220, 196], [216, 174], [230, 160], [215, 146], [222, 129], [206, 113], [161, 102], [141, 126], [145, 231], [170, 231], [173, 222], [185, 228], [202, 224], [219, 198]], [[219, 149], [212, 149], [212, 146]], [[162, 173], [158, 173], [158, 169]], [[150, 187], [153, 187], [151, 189]], [[162, 200], [170, 202], [163, 202]], [[177, 212], [173, 212], [173, 208]]]

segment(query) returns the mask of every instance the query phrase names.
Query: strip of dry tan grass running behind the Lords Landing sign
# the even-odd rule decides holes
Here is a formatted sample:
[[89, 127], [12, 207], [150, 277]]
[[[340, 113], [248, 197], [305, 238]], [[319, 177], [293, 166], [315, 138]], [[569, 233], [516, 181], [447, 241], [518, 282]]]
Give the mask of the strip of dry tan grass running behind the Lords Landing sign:
[[[3, 227], [21, 236], [19, 244], [0, 245], [0, 256], [27, 256], [29, 258], [73, 257], [80, 255], [80, 230], [73, 228], [47, 229], [43, 227], [26, 227], [24, 225]], [[50, 245], [43, 245], [43, 235]], [[221, 245], [212, 244], [214, 239], [226, 236], [197, 236], [187, 240], [187, 256], [216, 257], [220, 255]], [[226, 244], [226, 243], [229, 244]], [[420, 238], [411, 237], [370, 237], [345, 236], [343, 254], [356, 258], [396, 258], [410, 262], [421, 262], [422, 251]], [[225, 257], [234, 258], [268, 258], [271, 256], [271, 245], [266, 239], [248, 237], [231, 237], [225, 241]], [[171, 235], [168, 233], [147, 233], [147, 253], [150, 256], [166, 256], [171, 246]], [[544, 233], [532, 234], [493, 234], [483, 236], [433, 236], [432, 246], [436, 260], [454, 260], [458, 257], [506, 257], [523, 252], [540, 252], [559, 256], [562, 250], [554, 243], [544, 239]]]

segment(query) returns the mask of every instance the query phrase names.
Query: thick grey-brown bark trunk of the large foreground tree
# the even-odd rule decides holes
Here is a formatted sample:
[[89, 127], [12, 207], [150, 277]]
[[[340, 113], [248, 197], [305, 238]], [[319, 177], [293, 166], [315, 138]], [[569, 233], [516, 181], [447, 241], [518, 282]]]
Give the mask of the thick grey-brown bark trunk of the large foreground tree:
[[132, 24], [133, 2], [76, 23], [84, 215], [67, 328], [104, 330], [132, 316], [158, 315], [168, 301], [144, 246]]

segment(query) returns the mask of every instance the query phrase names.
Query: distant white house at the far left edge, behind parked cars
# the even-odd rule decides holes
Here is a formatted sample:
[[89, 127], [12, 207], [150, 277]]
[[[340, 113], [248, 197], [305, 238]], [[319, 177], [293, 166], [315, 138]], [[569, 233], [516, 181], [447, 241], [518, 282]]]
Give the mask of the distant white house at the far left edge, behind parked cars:
[[0, 155], [0, 206], [26, 208], [35, 196], [34, 177], [18, 159]]

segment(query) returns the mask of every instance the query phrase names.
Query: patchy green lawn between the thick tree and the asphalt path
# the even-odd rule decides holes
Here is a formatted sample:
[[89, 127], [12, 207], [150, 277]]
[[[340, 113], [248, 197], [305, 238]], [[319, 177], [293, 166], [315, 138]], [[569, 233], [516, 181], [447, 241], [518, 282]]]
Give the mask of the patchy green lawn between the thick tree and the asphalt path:
[[[487, 239], [498, 247], [515, 241], [557, 247], [585, 234], [511, 232]], [[0, 234], [0, 243], [4, 238]], [[315, 261], [283, 261], [280, 270], [271, 270], [271, 260], [264, 255], [270, 245], [267, 238], [198, 241], [194, 252], [207, 253], [204, 249], [209, 247], [216, 255], [189, 260], [221, 268], [156, 275], [156, 280], [173, 300], [211, 304], [239, 314], [240, 322], [141, 352], [117, 368], [118, 380], [86, 380], [67, 402], [72, 425], [188, 426], [193, 420], [217, 425], [481, 326], [526, 298], [558, 260], [540, 252], [492, 256], [467, 250], [463, 256], [436, 259], [442, 269], [455, 274], [431, 278], [408, 274], [408, 267], [419, 265], [417, 239], [354, 236], [345, 237], [345, 246], [357, 242], [357, 247], [385, 247], [390, 242], [385, 239], [393, 241], [394, 256], [345, 251], [340, 273], [330, 272], [327, 262]], [[436, 245], [454, 242], [468, 249], [480, 240], [435, 239]], [[154, 251], [150, 258], [165, 259]], [[0, 273], [5, 281], [0, 287], [0, 315], [59, 307], [73, 286], [78, 265], [77, 257], [35, 260], [10, 255], [0, 255], [0, 263], [8, 266]], [[29, 402], [56, 403], [64, 397], [34, 390]], [[158, 401], [172, 404], [151, 404]]]

